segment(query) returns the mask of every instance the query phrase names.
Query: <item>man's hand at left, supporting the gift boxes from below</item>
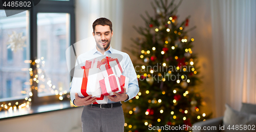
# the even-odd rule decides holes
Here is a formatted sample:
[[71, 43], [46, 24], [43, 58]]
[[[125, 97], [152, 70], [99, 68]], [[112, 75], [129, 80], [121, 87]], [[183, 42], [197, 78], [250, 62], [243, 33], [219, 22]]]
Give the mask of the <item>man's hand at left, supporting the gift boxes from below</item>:
[[[90, 98], [90, 97], [92, 97], [92, 95], [89, 95], [89, 96], [87, 96], [87, 97], [85, 97], [85, 98], [80, 98], [80, 97], [78, 96], [78, 94], [76, 93], [76, 94], [75, 94], [74, 103], [75, 103], [75, 105], [76, 105], [77, 107], [80, 107], [80, 106], [92, 104], [92, 103], [94, 103], [94, 102], [97, 100], [96, 97], [92, 97], [92, 98]], [[89, 99], [89, 98], [90, 98], [90, 99]]]

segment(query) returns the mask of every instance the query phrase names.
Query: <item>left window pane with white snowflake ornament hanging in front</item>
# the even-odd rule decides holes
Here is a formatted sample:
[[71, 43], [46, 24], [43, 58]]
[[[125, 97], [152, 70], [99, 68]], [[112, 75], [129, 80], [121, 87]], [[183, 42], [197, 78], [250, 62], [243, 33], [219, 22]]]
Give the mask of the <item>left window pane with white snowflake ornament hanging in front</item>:
[[[25, 11], [0, 18], [0, 91], [2, 92], [0, 102], [24, 99], [28, 95], [27, 92], [21, 93], [22, 85], [20, 85], [20, 80], [27, 82], [26, 84], [30, 80], [28, 72], [30, 44], [27, 41], [29, 39], [29, 19], [27, 16], [29, 16], [29, 12]], [[17, 38], [23, 41], [21, 42]]]

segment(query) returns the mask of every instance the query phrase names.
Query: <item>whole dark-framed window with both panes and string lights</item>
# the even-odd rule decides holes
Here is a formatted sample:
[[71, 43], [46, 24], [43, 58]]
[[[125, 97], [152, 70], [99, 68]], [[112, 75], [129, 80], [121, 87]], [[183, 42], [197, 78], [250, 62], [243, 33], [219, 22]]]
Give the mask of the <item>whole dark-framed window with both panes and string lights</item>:
[[[0, 104], [9, 107], [26, 97], [40, 104], [69, 93], [65, 52], [75, 43], [74, 1], [41, 0], [28, 11], [3, 16], [0, 7]], [[22, 35], [24, 43], [11, 44], [10, 35]]]

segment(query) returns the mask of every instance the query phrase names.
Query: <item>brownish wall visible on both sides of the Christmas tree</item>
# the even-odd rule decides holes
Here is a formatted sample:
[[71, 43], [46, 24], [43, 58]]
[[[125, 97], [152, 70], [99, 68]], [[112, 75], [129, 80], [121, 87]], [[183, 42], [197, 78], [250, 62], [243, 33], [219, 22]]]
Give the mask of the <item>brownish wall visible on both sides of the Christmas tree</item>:
[[[130, 48], [133, 44], [131, 38], [139, 37], [139, 34], [132, 28], [143, 26], [144, 21], [140, 17], [140, 14], [145, 16], [145, 11], [148, 11], [152, 16], [154, 15], [153, 8], [148, 0], [130, 0], [124, 1], [123, 8], [123, 33], [122, 33], [122, 50], [128, 52], [133, 61], [136, 60], [135, 56], [132, 56], [131, 52], [126, 48]], [[178, 1], [177, 1], [178, 2]], [[210, 1], [193, 0], [183, 1], [178, 8], [180, 17], [178, 20], [184, 20], [185, 17], [191, 15], [189, 21], [189, 28], [197, 28], [188, 33], [188, 37], [195, 38], [193, 52], [198, 54], [198, 66], [200, 66], [200, 76], [202, 76], [202, 84], [197, 87], [197, 90], [201, 92], [206, 102], [202, 110], [206, 114], [215, 113], [215, 96], [214, 96], [214, 72], [213, 72], [213, 60], [212, 60], [212, 38], [211, 38], [211, 13], [210, 13]]]

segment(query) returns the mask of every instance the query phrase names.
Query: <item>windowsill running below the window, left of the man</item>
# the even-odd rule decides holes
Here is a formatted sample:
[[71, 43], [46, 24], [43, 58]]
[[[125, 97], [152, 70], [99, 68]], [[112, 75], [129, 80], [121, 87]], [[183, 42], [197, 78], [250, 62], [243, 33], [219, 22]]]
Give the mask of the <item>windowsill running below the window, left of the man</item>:
[[13, 110], [9, 111], [0, 111], [0, 120], [29, 116], [34, 114], [40, 114], [45, 112], [59, 111], [59, 110], [67, 110], [71, 108], [76, 108], [74, 105], [70, 104], [70, 100], [63, 100], [60, 102], [50, 103], [50, 104], [41, 104], [41, 105], [32, 105], [30, 108], [26, 108], [26, 110]]

